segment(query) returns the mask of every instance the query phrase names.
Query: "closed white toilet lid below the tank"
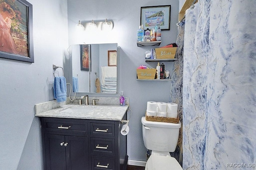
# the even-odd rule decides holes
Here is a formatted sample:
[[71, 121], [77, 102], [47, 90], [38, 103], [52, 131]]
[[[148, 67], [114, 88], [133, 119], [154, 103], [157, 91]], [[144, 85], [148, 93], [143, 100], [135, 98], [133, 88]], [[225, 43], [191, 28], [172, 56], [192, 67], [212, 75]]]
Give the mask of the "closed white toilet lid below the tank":
[[145, 170], [182, 170], [178, 161], [170, 156], [151, 155]]

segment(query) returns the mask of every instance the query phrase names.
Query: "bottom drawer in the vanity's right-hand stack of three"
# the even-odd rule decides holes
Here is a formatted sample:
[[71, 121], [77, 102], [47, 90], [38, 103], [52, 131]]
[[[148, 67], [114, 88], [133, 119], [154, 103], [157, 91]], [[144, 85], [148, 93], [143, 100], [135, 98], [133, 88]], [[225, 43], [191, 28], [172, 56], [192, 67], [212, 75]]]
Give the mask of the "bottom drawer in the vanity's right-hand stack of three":
[[114, 170], [115, 159], [100, 156], [92, 156], [92, 170]]

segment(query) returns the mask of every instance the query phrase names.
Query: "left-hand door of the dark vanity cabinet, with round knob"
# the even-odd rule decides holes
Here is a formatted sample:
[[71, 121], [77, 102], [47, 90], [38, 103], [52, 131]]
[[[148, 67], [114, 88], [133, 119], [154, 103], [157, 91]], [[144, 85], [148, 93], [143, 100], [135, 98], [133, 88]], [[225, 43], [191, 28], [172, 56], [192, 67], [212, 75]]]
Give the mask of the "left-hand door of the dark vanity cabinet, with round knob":
[[56, 134], [45, 134], [45, 152], [47, 170], [66, 169], [65, 137]]

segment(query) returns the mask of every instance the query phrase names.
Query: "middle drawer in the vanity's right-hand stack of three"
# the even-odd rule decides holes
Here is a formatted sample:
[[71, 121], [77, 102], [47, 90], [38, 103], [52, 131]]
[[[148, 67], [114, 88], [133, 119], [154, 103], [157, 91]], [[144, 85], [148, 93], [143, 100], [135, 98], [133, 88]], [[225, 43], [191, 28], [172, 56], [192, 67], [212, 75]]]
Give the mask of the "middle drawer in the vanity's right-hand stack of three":
[[114, 156], [115, 140], [106, 138], [91, 138], [91, 153], [99, 156]]

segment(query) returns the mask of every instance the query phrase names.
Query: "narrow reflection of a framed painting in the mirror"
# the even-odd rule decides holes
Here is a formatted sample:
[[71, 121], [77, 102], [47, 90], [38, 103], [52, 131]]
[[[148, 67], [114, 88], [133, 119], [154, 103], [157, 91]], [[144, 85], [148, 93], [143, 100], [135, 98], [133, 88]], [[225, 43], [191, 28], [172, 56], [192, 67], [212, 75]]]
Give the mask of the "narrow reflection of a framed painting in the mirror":
[[91, 46], [90, 44], [80, 44], [80, 66], [81, 71], [90, 71]]

